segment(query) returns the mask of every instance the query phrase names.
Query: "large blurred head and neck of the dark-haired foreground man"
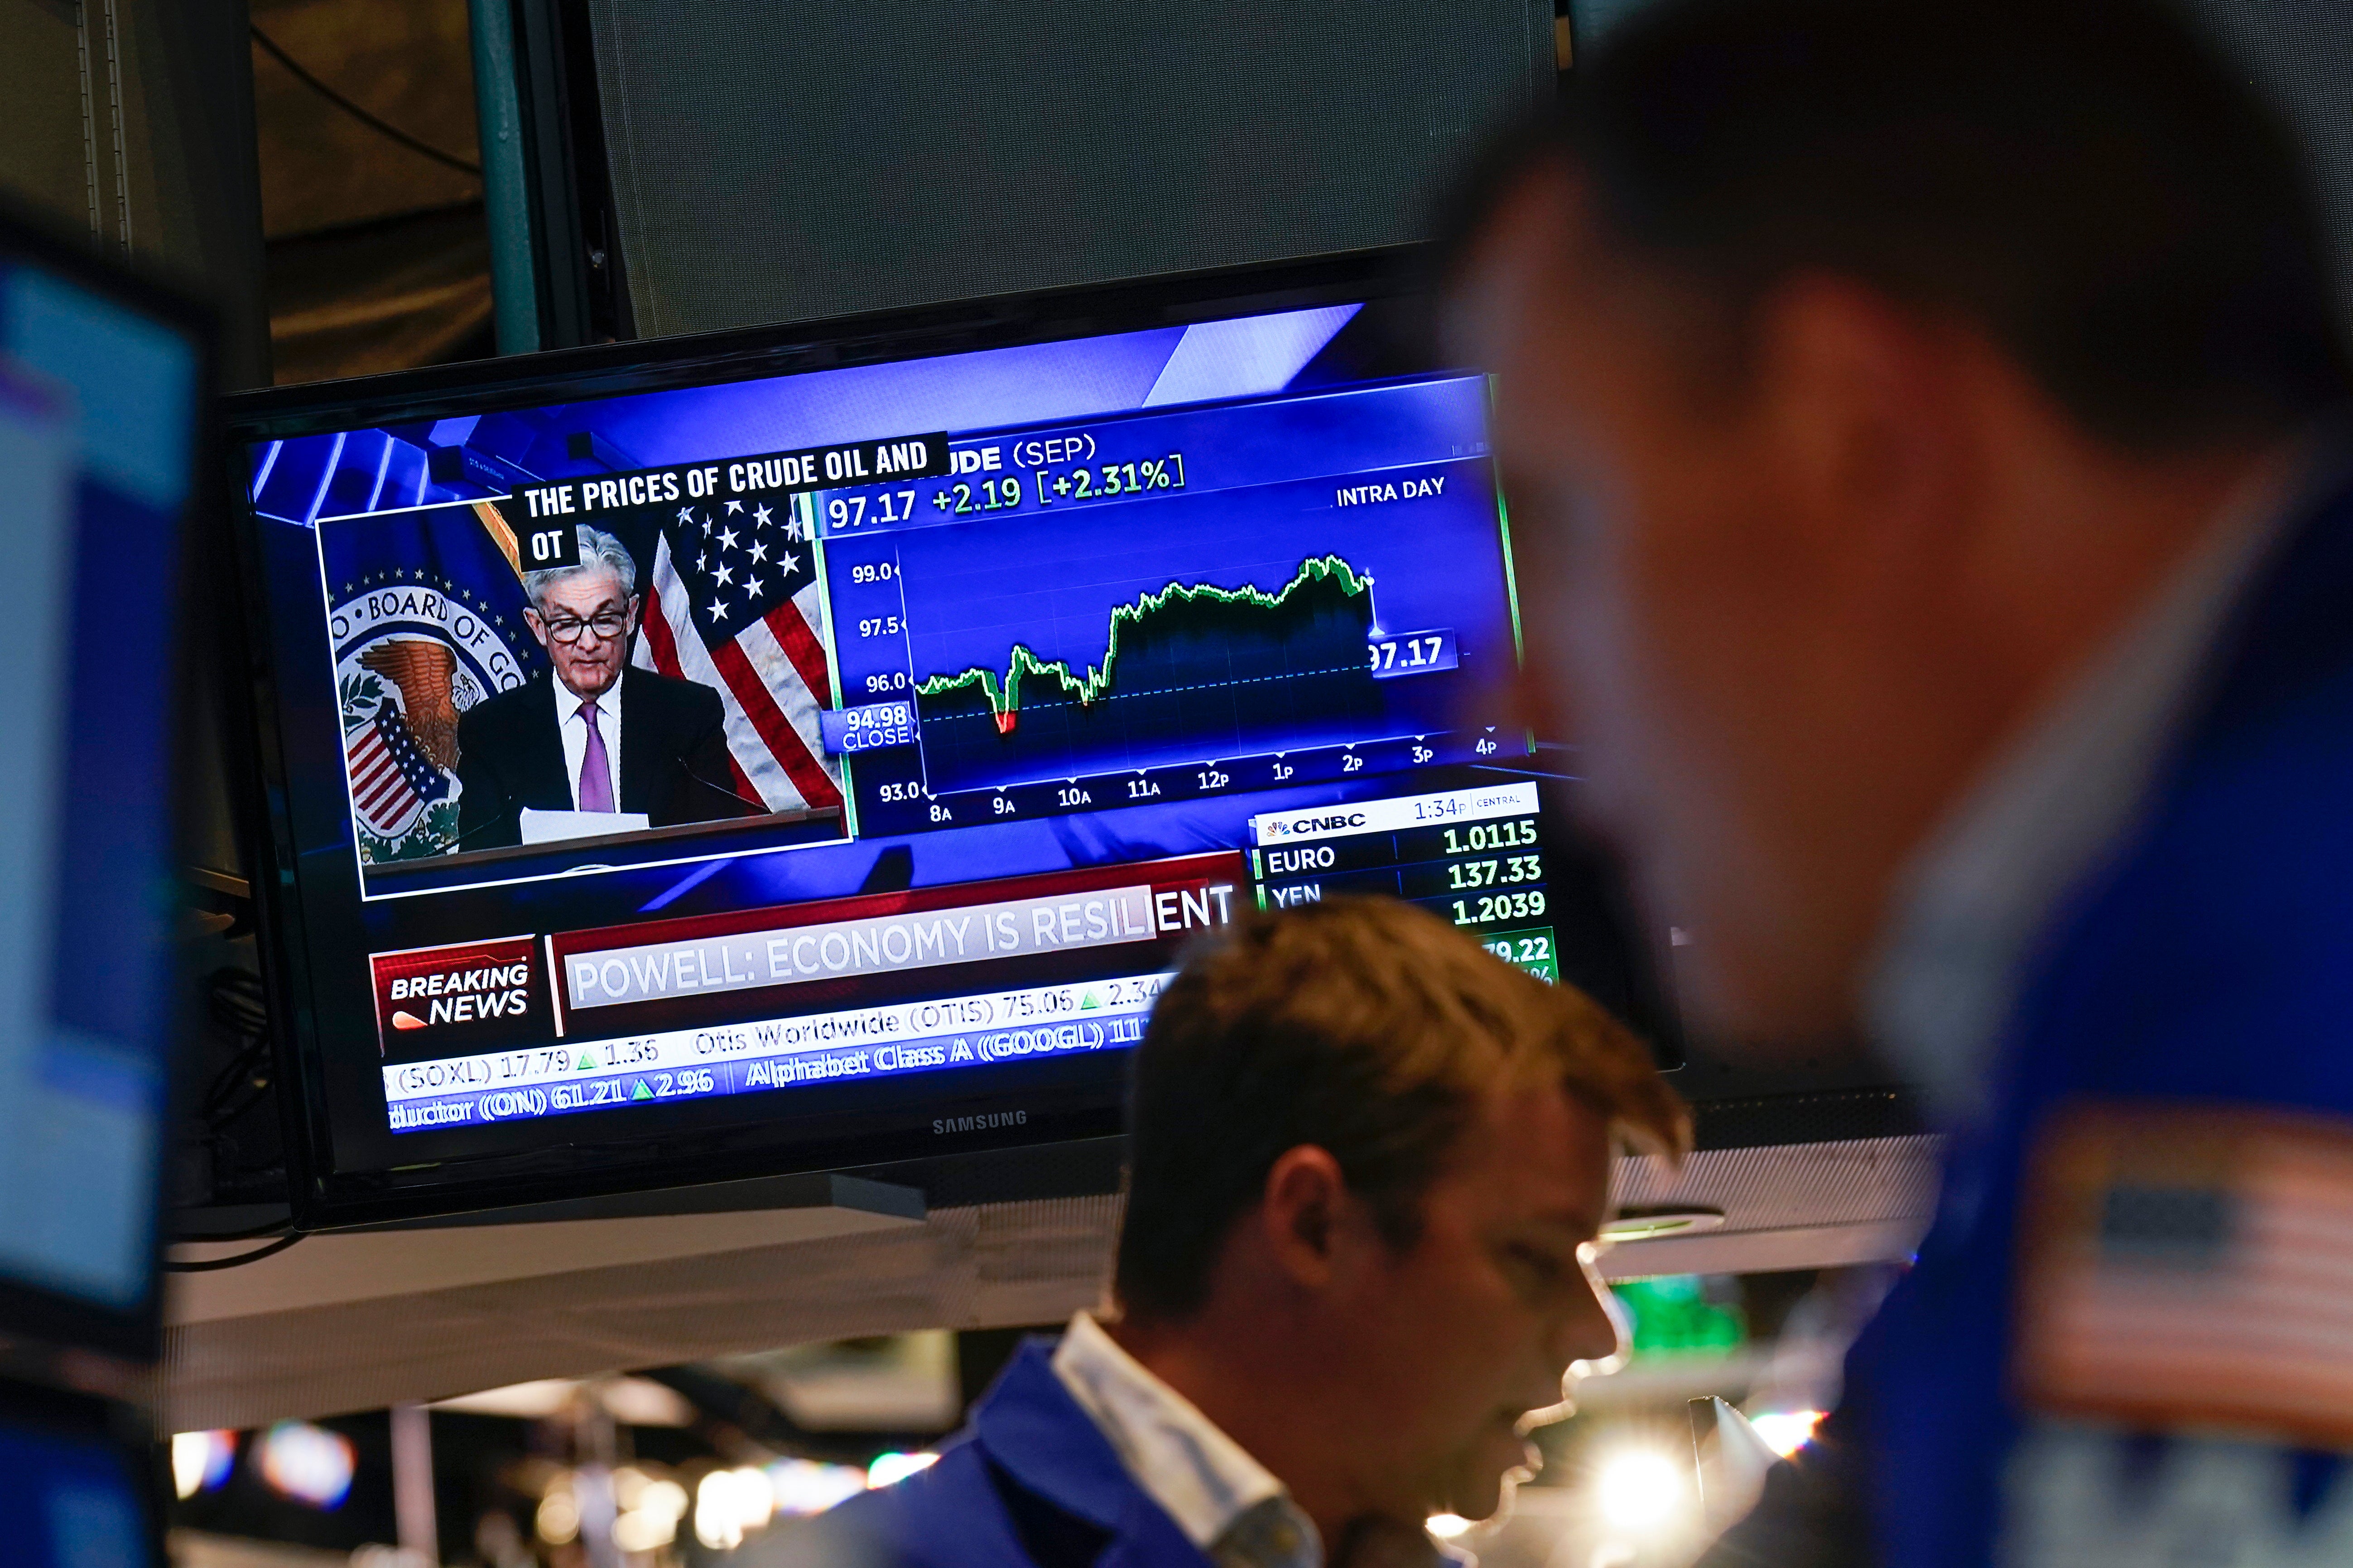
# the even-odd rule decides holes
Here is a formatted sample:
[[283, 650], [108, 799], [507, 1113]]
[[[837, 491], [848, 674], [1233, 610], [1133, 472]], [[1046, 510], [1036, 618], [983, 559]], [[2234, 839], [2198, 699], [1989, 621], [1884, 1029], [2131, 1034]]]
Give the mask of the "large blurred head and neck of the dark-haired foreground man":
[[1704, 1020], [1840, 1034], [1939, 816], [2346, 395], [2292, 148], [2155, 5], [1661, 0], [1466, 214], [1532, 722]]

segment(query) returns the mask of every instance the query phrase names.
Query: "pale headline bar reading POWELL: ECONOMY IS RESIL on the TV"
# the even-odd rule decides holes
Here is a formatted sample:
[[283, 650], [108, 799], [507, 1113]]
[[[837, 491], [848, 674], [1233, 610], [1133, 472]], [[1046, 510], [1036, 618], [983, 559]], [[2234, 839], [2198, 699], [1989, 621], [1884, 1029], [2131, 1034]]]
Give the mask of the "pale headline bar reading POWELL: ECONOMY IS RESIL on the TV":
[[[1174, 910], [1174, 893], [1169, 900]], [[659, 997], [1148, 943], [1165, 926], [1176, 929], [1174, 917], [1155, 917], [1153, 889], [1146, 884], [600, 947], [565, 954], [565, 1009], [579, 1013]]]

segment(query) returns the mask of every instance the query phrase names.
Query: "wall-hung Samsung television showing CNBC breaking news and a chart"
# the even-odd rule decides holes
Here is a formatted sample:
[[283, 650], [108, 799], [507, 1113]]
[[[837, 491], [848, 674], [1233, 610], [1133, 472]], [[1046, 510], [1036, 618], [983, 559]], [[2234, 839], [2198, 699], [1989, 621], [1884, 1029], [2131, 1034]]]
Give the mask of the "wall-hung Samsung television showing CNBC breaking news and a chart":
[[1398, 256], [235, 400], [304, 1225], [1118, 1131], [1249, 905], [1673, 1037]]

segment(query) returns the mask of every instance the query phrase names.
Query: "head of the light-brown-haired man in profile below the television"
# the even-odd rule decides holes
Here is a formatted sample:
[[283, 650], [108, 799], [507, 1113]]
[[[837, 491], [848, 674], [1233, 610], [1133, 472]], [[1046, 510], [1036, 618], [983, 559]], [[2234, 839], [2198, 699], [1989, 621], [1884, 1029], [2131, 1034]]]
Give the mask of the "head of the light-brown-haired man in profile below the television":
[[1214, 1415], [1311, 1514], [1482, 1519], [1515, 1422], [1619, 1347], [1612, 1150], [1685, 1126], [1633, 1034], [1421, 910], [1249, 917], [1136, 1053], [1120, 1333], [1259, 1378], [1273, 1434]]

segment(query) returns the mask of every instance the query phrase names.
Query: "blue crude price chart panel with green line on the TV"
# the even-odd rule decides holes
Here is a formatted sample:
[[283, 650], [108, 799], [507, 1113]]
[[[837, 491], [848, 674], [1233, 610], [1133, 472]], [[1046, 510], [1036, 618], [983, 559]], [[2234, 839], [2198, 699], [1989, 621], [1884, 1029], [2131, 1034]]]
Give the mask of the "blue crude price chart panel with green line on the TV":
[[1459, 386], [1384, 390], [958, 437], [946, 480], [819, 496], [861, 830], [1501, 762], [1466, 712], [1518, 646], [1492, 465], [1412, 418]]

